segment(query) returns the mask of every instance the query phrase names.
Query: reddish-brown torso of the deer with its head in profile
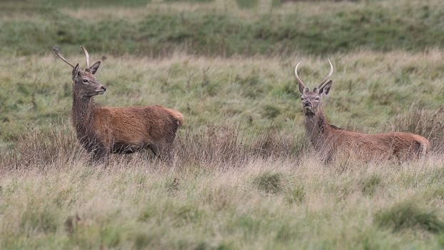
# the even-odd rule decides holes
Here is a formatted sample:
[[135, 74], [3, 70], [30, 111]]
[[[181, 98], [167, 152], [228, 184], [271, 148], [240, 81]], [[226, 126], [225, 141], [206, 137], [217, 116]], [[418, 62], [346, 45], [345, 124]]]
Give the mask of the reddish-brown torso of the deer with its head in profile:
[[181, 113], [158, 105], [97, 107], [93, 117], [90, 131], [77, 133], [79, 141], [89, 152], [105, 149], [113, 154], [151, 149], [168, 155], [183, 122]]

